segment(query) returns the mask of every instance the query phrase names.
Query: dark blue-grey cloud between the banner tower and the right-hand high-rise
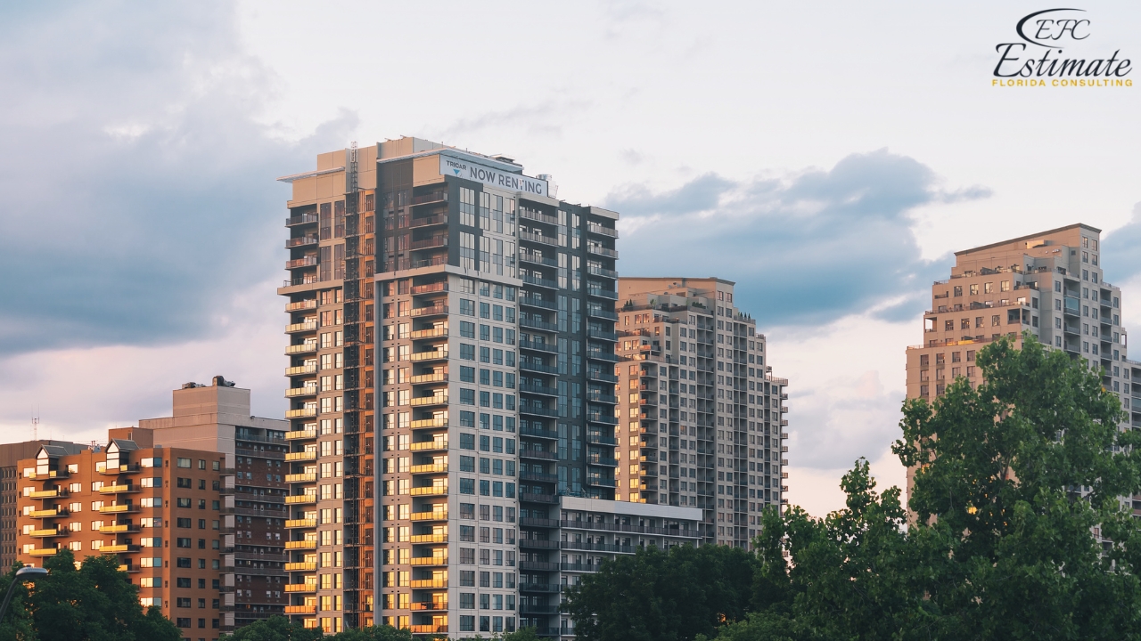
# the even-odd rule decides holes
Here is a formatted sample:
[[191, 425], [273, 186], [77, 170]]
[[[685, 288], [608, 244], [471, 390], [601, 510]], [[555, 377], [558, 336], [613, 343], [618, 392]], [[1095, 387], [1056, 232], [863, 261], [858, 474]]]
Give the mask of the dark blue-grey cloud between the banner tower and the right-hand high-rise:
[[988, 195], [942, 190], [926, 165], [880, 149], [787, 180], [709, 173], [669, 192], [626, 186], [606, 206], [623, 217], [623, 274], [736, 281], [742, 308], [785, 325], [827, 323], [897, 298], [884, 318], [919, 314], [920, 292], [947, 261], [922, 258], [911, 212]]

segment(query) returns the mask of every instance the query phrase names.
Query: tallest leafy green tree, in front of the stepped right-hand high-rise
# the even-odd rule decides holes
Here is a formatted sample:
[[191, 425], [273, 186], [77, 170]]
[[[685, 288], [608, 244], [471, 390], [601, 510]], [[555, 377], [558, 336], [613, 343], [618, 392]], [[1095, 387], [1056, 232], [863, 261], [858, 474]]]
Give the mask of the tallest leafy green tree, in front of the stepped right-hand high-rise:
[[[1097, 373], [1029, 334], [977, 365], [977, 389], [906, 403], [893, 446], [919, 466], [909, 539], [941, 638], [1135, 638], [1141, 539], [1118, 497], [1141, 489], [1141, 432], [1118, 429]], [[1119, 544], [1103, 551], [1098, 527]]]

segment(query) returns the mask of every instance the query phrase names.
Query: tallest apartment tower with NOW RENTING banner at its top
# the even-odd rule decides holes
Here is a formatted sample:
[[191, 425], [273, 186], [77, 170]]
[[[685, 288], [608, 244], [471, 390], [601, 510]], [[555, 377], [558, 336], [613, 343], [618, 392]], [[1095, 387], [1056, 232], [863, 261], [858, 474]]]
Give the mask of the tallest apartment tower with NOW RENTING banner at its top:
[[315, 561], [291, 583], [316, 586], [289, 611], [515, 628], [519, 563], [558, 581], [555, 552], [519, 539], [558, 541], [560, 495], [614, 497], [617, 214], [415, 138], [283, 180], [286, 438], [314, 453], [290, 470], [290, 545], [311, 545], [290, 567]]

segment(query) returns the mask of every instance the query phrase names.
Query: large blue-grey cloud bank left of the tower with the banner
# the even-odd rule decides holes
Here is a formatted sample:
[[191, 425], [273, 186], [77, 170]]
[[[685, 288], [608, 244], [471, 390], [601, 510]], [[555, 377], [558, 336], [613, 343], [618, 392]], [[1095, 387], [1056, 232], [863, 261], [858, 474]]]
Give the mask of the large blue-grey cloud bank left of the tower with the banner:
[[[274, 178], [317, 141], [254, 122], [274, 78], [227, 5], [43, 6], [0, 21], [0, 356], [219, 332], [283, 277]], [[343, 140], [339, 138], [338, 141]]]

